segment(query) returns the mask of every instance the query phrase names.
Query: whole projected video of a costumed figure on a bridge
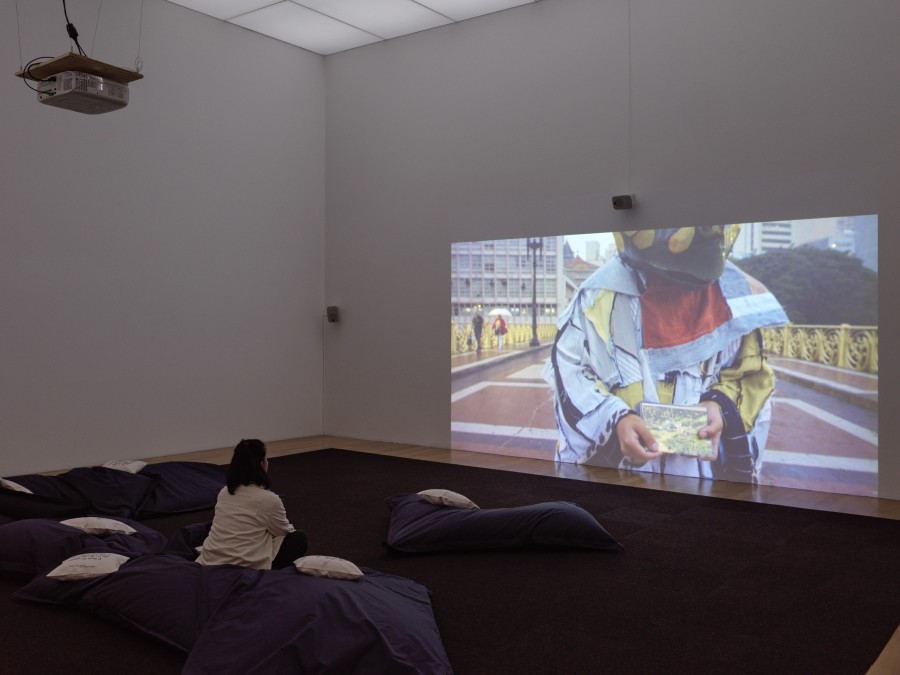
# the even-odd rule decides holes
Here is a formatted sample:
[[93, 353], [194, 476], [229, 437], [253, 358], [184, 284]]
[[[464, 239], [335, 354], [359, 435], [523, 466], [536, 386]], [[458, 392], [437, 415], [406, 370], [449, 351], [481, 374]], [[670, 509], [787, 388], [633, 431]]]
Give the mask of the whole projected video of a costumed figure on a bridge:
[[874, 215], [453, 244], [452, 448], [875, 496], [877, 260]]

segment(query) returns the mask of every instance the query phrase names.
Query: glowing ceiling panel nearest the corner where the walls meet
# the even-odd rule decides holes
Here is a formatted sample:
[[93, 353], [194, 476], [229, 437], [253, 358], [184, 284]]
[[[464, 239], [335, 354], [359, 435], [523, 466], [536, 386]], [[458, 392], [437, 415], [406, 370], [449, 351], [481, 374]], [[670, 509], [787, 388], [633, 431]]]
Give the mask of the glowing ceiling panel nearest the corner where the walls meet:
[[361, 47], [381, 38], [293, 2], [280, 2], [231, 20], [244, 28], [303, 47], [317, 54]]

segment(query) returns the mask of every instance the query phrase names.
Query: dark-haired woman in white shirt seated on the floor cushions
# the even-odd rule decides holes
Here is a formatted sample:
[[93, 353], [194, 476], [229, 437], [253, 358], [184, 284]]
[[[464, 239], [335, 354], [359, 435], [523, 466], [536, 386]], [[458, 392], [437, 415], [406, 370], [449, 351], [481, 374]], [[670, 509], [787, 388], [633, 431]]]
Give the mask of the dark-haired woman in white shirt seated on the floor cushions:
[[268, 469], [265, 443], [237, 444], [197, 558], [201, 565], [279, 569], [306, 553], [306, 534], [294, 529], [281, 498], [269, 489]]

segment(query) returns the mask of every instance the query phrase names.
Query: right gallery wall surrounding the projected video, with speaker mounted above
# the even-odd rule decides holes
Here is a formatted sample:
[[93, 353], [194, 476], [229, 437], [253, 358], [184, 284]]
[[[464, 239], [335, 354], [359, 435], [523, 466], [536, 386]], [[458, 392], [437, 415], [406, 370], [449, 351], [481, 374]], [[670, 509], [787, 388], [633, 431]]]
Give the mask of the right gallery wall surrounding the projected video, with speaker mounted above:
[[877, 213], [900, 498], [900, 3], [631, 0], [630, 25], [543, 0], [326, 59], [326, 432], [449, 447], [454, 241]]

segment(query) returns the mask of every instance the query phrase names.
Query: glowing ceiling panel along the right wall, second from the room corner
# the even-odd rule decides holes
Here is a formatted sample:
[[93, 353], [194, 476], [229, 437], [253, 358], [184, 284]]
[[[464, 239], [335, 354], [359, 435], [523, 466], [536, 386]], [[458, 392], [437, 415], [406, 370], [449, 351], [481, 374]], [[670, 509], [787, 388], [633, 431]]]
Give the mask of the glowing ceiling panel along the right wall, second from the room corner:
[[453, 21], [413, 0], [293, 0], [382, 38], [416, 33]]

